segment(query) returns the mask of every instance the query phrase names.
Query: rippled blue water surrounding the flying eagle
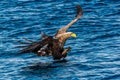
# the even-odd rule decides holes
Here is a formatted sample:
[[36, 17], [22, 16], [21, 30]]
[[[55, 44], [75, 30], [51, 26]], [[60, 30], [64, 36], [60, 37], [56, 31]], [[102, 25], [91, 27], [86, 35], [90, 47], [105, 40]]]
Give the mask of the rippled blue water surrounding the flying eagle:
[[[18, 54], [16, 40], [38, 40], [40, 33], [54, 35], [75, 17], [70, 27], [77, 34], [66, 60]], [[23, 41], [23, 40], [22, 40]], [[120, 80], [119, 0], [0, 0], [0, 80]]]

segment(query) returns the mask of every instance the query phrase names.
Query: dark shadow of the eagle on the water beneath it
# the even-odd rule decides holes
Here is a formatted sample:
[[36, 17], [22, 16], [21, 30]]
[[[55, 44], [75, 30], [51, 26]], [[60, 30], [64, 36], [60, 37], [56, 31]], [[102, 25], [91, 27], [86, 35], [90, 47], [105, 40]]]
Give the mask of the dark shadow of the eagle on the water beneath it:
[[37, 62], [26, 67], [22, 67], [20, 74], [24, 76], [35, 75], [39, 77], [52, 76], [56, 74], [56, 70], [65, 65], [67, 60], [59, 60], [52, 62]]

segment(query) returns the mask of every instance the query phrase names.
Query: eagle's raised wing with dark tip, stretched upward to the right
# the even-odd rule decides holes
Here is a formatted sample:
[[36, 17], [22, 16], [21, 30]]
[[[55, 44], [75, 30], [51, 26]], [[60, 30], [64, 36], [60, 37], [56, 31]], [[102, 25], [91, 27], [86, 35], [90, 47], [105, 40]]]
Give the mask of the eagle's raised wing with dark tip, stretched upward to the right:
[[72, 20], [69, 24], [67, 24], [65, 27], [59, 29], [55, 36], [66, 32], [67, 29], [68, 29], [70, 26], [72, 26], [76, 21], [78, 21], [78, 20], [81, 18], [82, 14], [83, 14], [82, 8], [80, 7], [80, 5], [77, 5], [77, 6], [76, 6], [76, 9], [77, 9], [77, 10], [76, 10], [77, 16], [75, 17], [75, 19], [73, 19], [73, 20]]

